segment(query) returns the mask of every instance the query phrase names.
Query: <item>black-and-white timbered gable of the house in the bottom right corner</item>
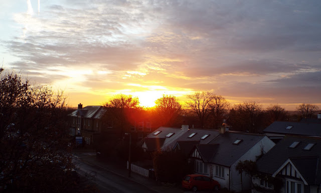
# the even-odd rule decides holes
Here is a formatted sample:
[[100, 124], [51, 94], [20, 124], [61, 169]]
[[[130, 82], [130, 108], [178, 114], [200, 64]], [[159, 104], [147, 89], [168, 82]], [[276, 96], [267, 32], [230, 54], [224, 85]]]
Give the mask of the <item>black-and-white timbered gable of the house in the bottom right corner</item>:
[[306, 180], [303, 178], [299, 170], [295, 167], [291, 159], [287, 159], [273, 174], [272, 177], [276, 175], [290, 176], [301, 179], [305, 185], [308, 185]]

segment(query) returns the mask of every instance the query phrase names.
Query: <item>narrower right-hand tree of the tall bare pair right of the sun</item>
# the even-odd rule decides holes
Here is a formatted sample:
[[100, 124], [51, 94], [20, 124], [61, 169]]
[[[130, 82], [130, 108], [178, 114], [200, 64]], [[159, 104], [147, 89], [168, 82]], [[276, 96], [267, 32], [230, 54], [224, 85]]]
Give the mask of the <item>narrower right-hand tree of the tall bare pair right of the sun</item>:
[[213, 100], [210, 103], [211, 114], [213, 119], [214, 129], [222, 125], [223, 120], [226, 118], [228, 110], [230, 109], [230, 103], [224, 99], [221, 95], [214, 95]]

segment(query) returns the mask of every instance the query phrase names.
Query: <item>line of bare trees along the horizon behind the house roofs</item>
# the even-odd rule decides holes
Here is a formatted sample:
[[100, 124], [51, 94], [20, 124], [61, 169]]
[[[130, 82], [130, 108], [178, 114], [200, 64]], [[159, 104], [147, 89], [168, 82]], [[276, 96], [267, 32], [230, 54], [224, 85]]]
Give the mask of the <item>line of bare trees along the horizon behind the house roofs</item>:
[[147, 112], [152, 123], [157, 126], [179, 127], [182, 124], [194, 125], [196, 128], [217, 129], [223, 123], [235, 131], [260, 133], [274, 121], [299, 121], [301, 118], [314, 118], [319, 108], [311, 104], [300, 104], [295, 115], [289, 114], [280, 105], [270, 105], [266, 109], [255, 101], [231, 105], [223, 96], [212, 92], [195, 92], [187, 95], [189, 99], [180, 104], [173, 95], [163, 95], [155, 101], [155, 107], [142, 109], [138, 98], [118, 94], [105, 103], [108, 109], [117, 109], [113, 116], [122, 122], [125, 114], [119, 109], [135, 109]]

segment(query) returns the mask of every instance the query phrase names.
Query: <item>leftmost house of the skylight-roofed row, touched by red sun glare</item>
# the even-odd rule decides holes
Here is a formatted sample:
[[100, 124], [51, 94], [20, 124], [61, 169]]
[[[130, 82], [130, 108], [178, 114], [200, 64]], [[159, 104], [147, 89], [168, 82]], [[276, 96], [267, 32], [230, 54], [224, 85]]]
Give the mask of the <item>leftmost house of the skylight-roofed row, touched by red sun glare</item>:
[[159, 127], [142, 142], [144, 151], [172, 150], [176, 140], [189, 130], [188, 125], [182, 125], [182, 128]]

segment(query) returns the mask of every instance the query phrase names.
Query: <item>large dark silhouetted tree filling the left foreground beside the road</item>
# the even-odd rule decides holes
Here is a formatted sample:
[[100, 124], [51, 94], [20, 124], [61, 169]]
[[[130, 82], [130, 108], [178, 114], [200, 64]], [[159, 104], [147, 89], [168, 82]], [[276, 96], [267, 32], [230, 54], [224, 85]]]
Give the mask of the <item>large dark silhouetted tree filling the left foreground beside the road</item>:
[[13, 192], [81, 191], [71, 177], [72, 142], [63, 91], [8, 72], [0, 84], [0, 186]]

